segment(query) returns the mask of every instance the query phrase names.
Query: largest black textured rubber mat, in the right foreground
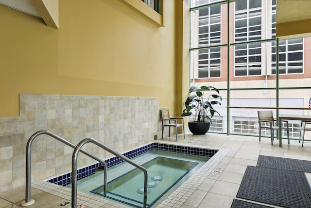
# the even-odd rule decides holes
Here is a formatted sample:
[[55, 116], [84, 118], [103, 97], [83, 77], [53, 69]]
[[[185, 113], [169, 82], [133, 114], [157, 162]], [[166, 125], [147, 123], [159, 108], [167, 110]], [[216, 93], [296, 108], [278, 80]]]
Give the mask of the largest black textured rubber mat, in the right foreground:
[[304, 172], [247, 166], [238, 198], [285, 208], [309, 208], [311, 189]]

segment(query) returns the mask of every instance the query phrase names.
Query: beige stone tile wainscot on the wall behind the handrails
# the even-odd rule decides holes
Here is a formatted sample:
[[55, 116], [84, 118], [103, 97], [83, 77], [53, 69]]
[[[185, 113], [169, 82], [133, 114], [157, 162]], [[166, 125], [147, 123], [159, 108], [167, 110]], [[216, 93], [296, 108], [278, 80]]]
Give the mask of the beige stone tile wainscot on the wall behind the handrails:
[[[40, 130], [77, 145], [93, 137], [125, 152], [161, 137], [157, 98], [84, 95], [19, 95], [19, 116], [0, 118], [0, 190], [25, 184], [26, 144]], [[100, 157], [110, 153], [87, 143], [84, 150]], [[71, 170], [73, 149], [51, 136], [32, 144], [32, 181]], [[93, 159], [79, 154], [78, 165]]]

